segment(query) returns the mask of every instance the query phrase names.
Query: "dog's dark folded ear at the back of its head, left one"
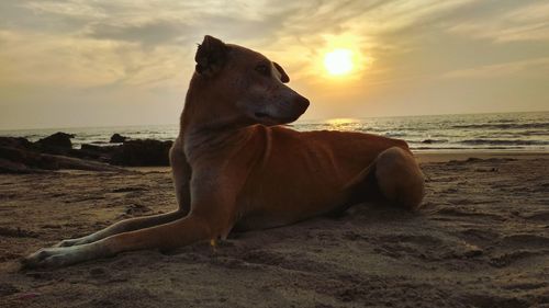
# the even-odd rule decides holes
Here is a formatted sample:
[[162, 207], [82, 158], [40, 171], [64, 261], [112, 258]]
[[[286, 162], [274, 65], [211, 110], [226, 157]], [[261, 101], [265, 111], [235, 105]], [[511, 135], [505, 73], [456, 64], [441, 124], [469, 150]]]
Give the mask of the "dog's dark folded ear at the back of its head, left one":
[[194, 61], [195, 70], [199, 75], [213, 76], [225, 65], [228, 47], [221, 39], [213, 36], [204, 36], [204, 41], [199, 45]]

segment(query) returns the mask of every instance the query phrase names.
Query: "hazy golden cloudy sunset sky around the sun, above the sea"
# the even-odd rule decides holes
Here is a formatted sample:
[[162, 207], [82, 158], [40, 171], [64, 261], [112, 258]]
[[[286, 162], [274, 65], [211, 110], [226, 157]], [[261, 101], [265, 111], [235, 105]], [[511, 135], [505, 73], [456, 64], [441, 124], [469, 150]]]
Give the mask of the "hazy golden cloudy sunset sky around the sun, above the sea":
[[[549, 110], [549, 1], [0, 1], [0, 129], [175, 124], [205, 34], [282, 65], [302, 118]], [[352, 54], [330, 76], [324, 57]]]

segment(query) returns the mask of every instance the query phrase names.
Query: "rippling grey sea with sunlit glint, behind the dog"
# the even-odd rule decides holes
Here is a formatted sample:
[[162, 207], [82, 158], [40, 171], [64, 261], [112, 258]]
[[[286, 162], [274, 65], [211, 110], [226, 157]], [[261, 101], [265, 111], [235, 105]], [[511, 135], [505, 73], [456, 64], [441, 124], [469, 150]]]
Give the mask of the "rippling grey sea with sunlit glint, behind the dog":
[[[404, 139], [416, 151], [549, 151], [549, 112], [423, 115], [397, 117], [298, 121], [296, 130], [348, 130]], [[132, 139], [173, 140], [179, 127], [143, 125], [120, 127], [58, 127], [0, 130], [0, 136], [36, 141], [56, 132], [74, 134], [72, 144], [111, 145], [114, 133]]]

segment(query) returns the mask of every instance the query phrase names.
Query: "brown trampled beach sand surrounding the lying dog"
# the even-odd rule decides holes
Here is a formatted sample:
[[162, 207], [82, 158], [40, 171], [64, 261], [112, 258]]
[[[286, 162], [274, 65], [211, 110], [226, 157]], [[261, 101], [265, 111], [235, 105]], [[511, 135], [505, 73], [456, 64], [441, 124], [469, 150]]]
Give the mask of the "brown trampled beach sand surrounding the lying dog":
[[169, 170], [0, 175], [0, 307], [549, 307], [549, 156], [419, 159], [419, 213], [360, 204], [215, 250], [40, 271], [18, 260], [172, 209]]

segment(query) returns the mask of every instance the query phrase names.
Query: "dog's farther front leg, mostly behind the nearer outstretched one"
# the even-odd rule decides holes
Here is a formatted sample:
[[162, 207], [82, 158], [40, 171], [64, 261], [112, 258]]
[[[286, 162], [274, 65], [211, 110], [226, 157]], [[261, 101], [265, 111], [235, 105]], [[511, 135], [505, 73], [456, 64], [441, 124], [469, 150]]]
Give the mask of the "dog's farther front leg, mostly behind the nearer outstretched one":
[[176, 142], [173, 142], [173, 146], [170, 149], [170, 164], [178, 202], [177, 210], [167, 214], [125, 219], [86, 237], [63, 240], [55, 247], [70, 247], [90, 243], [121, 232], [128, 232], [156, 225], [163, 225], [184, 217], [189, 213], [190, 208], [189, 182], [191, 178], [191, 168], [184, 158], [179, 138]]

